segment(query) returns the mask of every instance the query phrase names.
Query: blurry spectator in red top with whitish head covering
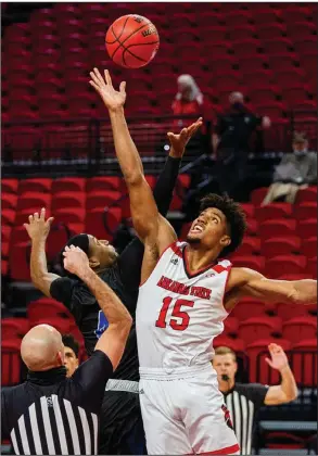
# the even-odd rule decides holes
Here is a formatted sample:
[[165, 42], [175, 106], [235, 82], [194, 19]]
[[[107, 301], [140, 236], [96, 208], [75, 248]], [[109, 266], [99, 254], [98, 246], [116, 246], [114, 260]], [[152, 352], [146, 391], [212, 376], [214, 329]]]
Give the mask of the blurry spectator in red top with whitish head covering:
[[[190, 75], [178, 77], [178, 92], [173, 102], [173, 113], [175, 116], [193, 115], [196, 117], [204, 114], [203, 94]], [[191, 119], [177, 119], [179, 127], [189, 126], [191, 123]]]

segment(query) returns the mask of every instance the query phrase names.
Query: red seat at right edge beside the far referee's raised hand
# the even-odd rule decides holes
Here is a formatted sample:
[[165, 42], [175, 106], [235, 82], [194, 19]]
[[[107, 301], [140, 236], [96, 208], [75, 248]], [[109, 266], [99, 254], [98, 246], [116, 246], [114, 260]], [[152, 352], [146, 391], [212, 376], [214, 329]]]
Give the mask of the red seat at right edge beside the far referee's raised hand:
[[317, 337], [306, 338], [293, 344], [292, 370], [297, 384], [316, 388], [317, 384]]

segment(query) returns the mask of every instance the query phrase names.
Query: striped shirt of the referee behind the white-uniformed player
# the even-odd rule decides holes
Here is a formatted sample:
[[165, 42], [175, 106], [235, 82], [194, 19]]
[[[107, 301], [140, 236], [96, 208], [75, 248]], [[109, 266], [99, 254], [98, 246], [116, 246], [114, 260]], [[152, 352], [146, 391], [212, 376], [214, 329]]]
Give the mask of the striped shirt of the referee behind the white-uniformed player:
[[252, 453], [255, 415], [264, 405], [268, 387], [259, 383], [236, 383], [225, 395], [242, 455]]

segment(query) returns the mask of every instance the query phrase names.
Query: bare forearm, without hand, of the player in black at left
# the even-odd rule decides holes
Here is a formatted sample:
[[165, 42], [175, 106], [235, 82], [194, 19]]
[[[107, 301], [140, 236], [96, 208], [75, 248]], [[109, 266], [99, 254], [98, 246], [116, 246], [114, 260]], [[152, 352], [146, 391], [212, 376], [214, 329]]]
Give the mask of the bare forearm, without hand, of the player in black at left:
[[30, 278], [36, 288], [47, 296], [50, 296], [50, 287], [53, 280], [60, 276], [48, 271], [46, 255], [46, 239], [31, 241], [30, 253]]

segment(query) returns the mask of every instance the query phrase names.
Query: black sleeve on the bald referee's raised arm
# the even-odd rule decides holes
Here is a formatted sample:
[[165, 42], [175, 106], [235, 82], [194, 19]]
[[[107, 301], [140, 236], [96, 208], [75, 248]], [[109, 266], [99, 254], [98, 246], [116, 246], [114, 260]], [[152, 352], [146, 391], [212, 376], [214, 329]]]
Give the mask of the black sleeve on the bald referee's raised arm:
[[72, 377], [73, 381], [80, 385], [93, 411], [101, 406], [106, 382], [113, 375], [113, 365], [105, 353], [96, 350]]

